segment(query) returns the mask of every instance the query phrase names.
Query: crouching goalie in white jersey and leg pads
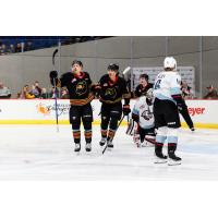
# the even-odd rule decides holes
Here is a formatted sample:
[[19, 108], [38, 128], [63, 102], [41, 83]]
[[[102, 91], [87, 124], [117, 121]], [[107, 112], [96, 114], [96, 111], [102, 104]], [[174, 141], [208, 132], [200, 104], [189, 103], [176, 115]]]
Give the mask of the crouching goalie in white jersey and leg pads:
[[155, 120], [153, 114], [153, 89], [141, 96], [133, 108], [126, 134], [133, 136], [137, 147], [155, 145]]

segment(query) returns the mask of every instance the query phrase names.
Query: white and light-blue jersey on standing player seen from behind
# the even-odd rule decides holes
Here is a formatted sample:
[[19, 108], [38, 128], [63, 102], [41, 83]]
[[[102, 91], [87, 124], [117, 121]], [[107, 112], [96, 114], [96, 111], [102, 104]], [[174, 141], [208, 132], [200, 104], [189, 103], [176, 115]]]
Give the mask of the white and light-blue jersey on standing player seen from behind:
[[155, 78], [154, 96], [175, 102], [172, 95], [181, 95], [181, 76], [174, 71], [164, 71]]

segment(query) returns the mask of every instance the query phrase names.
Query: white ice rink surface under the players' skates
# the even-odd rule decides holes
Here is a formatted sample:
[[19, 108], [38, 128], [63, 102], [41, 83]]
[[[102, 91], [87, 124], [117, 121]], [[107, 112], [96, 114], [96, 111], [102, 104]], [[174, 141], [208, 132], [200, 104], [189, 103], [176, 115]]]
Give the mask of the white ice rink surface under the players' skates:
[[218, 130], [181, 129], [182, 165], [167, 166], [155, 165], [154, 147], [137, 148], [125, 129], [102, 155], [94, 126], [93, 152], [83, 143], [76, 155], [70, 125], [59, 133], [55, 125], [0, 125], [0, 180], [218, 180]]

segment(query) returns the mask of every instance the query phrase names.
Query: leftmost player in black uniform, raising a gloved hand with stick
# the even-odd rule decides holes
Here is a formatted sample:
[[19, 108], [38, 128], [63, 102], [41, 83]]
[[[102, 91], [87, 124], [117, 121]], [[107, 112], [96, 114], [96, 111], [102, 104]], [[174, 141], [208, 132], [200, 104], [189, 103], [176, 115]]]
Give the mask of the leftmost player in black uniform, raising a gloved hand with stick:
[[92, 122], [93, 109], [90, 101], [94, 99], [92, 93], [92, 81], [89, 74], [83, 71], [83, 63], [80, 60], [72, 62], [72, 71], [64, 73], [58, 78], [57, 71], [50, 72], [51, 84], [53, 81], [58, 87], [65, 86], [70, 95], [70, 123], [75, 143], [74, 152], [81, 150], [81, 120], [84, 125], [86, 152], [92, 150]]

